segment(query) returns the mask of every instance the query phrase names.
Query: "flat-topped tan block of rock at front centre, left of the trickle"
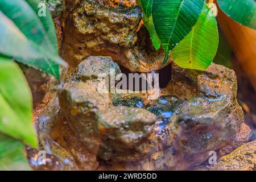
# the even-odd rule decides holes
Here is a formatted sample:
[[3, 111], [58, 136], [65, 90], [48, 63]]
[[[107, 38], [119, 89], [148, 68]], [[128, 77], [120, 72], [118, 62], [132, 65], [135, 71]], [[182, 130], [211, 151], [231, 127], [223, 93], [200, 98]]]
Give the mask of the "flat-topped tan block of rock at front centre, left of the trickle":
[[125, 106], [109, 107], [98, 111], [96, 118], [102, 138], [101, 159], [131, 162], [154, 149], [151, 138], [156, 117], [149, 111]]

